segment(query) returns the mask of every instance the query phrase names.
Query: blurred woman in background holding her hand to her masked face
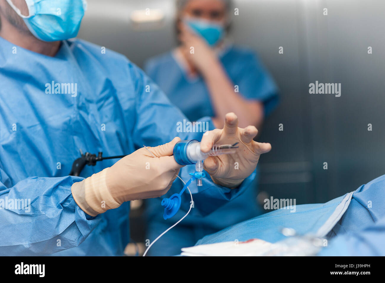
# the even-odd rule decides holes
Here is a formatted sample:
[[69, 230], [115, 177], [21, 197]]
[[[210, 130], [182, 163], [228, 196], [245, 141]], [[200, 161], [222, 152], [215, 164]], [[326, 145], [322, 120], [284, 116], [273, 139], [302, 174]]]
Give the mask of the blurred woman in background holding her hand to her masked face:
[[[181, 44], [148, 60], [145, 71], [191, 121], [209, 116], [216, 127], [221, 127], [219, 117], [235, 112], [240, 125], [258, 127], [276, 107], [278, 90], [252, 51], [229, 43], [226, 30], [231, 14], [228, 0], [179, 0], [177, 30]], [[187, 216], [162, 236], [149, 254], [177, 254], [206, 234], [261, 214], [256, 204], [256, 183], [208, 216]], [[160, 202], [147, 201], [150, 240], [175, 222], [162, 219]]]

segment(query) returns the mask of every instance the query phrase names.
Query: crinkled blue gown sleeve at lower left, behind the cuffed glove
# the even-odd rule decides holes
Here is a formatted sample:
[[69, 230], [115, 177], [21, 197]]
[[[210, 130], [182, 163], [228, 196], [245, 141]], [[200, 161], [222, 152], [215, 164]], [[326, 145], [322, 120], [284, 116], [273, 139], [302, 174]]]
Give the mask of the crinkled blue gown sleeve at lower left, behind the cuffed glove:
[[48, 255], [82, 243], [100, 221], [72, 198], [72, 184], [82, 179], [30, 177], [9, 186], [0, 169], [0, 256]]

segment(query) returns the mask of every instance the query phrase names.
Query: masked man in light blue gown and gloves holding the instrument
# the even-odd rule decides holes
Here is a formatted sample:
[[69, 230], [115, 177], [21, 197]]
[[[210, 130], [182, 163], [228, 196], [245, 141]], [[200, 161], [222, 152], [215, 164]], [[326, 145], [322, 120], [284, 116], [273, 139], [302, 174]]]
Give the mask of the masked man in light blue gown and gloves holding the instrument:
[[[206, 159], [203, 186], [189, 186], [192, 215], [242, 194], [259, 155], [271, 148], [253, 141], [254, 126], [237, 127], [233, 113], [224, 129], [205, 136], [177, 132], [186, 117], [142, 70], [111, 50], [67, 40], [76, 36], [84, 10], [82, 0], [0, 0], [2, 256], [123, 255], [129, 200], [179, 193], [175, 174], [187, 181], [194, 172], [193, 165], [179, 170], [171, 156], [176, 136], [202, 139], [203, 151], [225, 140], [240, 146], [221, 166], [217, 157]], [[211, 119], [202, 121], [214, 129]], [[68, 176], [79, 149], [129, 155]], [[182, 198], [181, 209], [189, 206], [189, 196]]]

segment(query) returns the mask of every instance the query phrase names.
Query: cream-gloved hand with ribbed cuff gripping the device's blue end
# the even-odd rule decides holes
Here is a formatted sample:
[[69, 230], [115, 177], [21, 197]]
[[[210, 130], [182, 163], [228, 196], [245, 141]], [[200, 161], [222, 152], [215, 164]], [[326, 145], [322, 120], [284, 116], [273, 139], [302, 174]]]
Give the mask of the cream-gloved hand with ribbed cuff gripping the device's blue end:
[[183, 167], [172, 156], [178, 141], [180, 138], [176, 137], [167, 144], [147, 147], [148, 150], [142, 147], [113, 166], [74, 183], [71, 191], [75, 202], [85, 213], [96, 216], [125, 201], [166, 194]]

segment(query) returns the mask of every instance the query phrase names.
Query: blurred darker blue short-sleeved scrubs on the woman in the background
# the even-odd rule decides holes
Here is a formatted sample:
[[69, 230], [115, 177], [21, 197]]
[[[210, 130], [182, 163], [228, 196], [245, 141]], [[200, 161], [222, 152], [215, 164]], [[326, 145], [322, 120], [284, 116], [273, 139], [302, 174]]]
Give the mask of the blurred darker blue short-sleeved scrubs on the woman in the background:
[[[278, 89], [254, 53], [248, 49], [228, 46], [221, 52], [219, 59], [229, 79], [239, 86], [239, 93], [247, 100], [263, 102], [265, 115], [270, 114], [278, 103]], [[145, 71], [191, 121], [215, 116], [203, 78], [188, 77], [172, 52], [150, 59]], [[181, 248], [193, 246], [206, 234], [261, 214], [256, 204], [255, 187], [256, 181], [239, 198], [208, 216], [187, 216], [151, 247], [149, 255], [175, 255]], [[162, 219], [159, 199], [149, 199], [146, 212], [149, 219], [147, 238], [150, 240], [175, 223], [174, 218], [169, 221]], [[175, 218], [182, 216], [180, 213]]]

